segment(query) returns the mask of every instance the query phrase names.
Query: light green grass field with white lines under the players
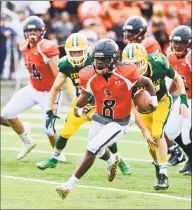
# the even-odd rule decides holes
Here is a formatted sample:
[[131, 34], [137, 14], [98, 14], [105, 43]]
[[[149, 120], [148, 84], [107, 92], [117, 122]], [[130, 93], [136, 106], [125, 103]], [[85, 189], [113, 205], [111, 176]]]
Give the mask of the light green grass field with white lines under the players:
[[[48, 158], [52, 149], [39, 113], [35, 109], [22, 115], [24, 122], [31, 123], [32, 137], [37, 141], [23, 160], [16, 160], [20, 139], [10, 128], [1, 127], [1, 209], [191, 209], [191, 177], [179, 174], [182, 165], [168, 168], [167, 191], [154, 191], [156, 177], [147, 143], [135, 127], [118, 142], [119, 152], [132, 167], [130, 176], [118, 171], [114, 182], [109, 183], [105, 163], [96, 160], [79, 185], [61, 200], [55, 187], [67, 181], [80, 163], [89, 123], [69, 140], [67, 162], [41, 171], [36, 163]], [[63, 120], [57, 121], [58, 132], [62, 124]]]

